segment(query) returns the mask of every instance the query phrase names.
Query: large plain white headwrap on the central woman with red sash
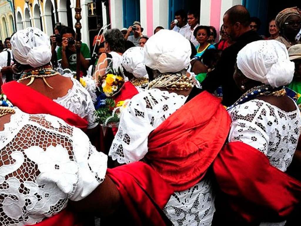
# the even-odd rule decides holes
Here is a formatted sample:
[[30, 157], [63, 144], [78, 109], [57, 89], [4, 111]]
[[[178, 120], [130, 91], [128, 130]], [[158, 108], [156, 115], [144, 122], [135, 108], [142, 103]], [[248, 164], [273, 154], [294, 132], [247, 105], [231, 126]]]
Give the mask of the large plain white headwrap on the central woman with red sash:
[[187, 69], [190, 63], [191, 45], [180, 33], [162, 29], [151, 36], [144, 46], [144, 62], [161, 73]]

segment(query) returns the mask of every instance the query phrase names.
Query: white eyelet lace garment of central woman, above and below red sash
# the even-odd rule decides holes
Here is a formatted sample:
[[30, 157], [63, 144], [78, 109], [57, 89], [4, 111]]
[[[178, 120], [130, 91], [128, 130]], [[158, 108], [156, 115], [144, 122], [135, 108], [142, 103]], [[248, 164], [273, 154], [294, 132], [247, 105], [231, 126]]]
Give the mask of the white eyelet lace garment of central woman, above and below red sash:
[[[119, 163], [136, 162], [147, 154], [148, 135], [184, 105], [186, 97], [160, 89], [135, 95], [123, 111], [109, 156]], [[211, 183], [203, 179], [193, 187], [175, 192], [164, 212], [174, 225], [211, 225], [214, 213]]]

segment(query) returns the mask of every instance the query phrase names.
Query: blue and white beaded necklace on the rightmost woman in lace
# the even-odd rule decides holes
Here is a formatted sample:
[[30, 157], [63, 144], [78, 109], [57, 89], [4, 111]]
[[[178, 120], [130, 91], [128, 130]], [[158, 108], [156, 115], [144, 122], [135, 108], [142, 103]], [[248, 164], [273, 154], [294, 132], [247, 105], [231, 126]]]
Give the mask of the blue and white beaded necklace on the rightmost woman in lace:
[[239, 105], [243, 104], [249, 100], [255, 99], [258, 96], [285, 96], [286, 91], [284, 86], [279, 88], [273, 88], [270, 85], [261, 85], [255, 86], [252, 89], [249, 89], [246, 93], [244, 93], [233, 105], [227, 108], [227, 110]]

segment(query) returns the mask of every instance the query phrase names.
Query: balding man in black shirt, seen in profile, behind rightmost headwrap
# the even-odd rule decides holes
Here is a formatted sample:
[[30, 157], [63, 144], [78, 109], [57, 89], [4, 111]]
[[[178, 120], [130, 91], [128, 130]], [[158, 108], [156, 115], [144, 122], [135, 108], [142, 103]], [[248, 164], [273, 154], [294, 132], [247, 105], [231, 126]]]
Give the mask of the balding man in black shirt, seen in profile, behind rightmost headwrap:
[[228, 9], [224, 14], [223, 22], [225, 33], [236, 42], [222, 52], [215, 69], [208, 73], [201, 85], [203, 90], [210, 93], [222, 86], [222, 104], [230, 106], [242, 95], [233, 79], [237, 53], [248, 43], [262, 38], [250, 29], [250, 14], [242, 5], [235, 5]]

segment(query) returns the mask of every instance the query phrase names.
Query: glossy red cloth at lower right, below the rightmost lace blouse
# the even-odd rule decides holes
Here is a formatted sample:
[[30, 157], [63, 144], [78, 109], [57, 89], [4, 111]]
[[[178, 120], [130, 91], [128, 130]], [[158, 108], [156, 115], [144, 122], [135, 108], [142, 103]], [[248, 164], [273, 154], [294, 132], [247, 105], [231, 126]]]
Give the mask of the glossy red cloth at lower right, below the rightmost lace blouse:
[[242, 142], [227, 144], [213, 162], [213, 170], [231, 208], [248, 222], [285, 220], [300, 202], [301, 182]]

